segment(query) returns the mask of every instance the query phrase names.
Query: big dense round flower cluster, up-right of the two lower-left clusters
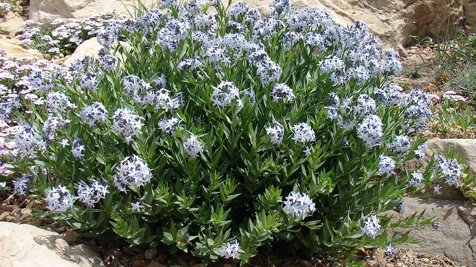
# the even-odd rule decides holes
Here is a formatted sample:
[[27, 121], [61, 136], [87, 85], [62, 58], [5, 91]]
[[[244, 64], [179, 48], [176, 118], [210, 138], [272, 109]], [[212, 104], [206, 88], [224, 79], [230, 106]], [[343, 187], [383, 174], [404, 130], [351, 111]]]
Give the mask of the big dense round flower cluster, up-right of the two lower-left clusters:
[[139, 156], [125, 157], [116, 167], [114, 186], [125, 192], [126, 187], [140, 187], [150, 182], [151, 170]]

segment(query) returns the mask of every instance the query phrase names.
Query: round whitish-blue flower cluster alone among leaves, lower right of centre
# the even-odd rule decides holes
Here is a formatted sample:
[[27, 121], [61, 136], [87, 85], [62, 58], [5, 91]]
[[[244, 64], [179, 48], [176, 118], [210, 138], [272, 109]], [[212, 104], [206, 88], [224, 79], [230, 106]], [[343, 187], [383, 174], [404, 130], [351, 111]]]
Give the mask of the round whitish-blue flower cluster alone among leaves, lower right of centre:
[[316, 211], [316, 204], [306, 193], [290, 192], [283, 210], [296, 220], [303, 220]]

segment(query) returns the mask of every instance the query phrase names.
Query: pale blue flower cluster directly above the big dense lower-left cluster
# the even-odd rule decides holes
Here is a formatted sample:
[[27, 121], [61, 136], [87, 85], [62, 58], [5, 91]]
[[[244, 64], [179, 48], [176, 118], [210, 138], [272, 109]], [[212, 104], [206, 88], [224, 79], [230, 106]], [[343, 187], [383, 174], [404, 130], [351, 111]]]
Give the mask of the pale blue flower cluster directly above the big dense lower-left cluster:
[[133, 114], [127, 108], [118, 108], [114, 112], [112, 119], [113, 129], [116, 133], [124, 136], [126, 143], [133, 141], [133, 137], [139, 136], [142, 126], [144, 126], [141, 122], [144, 118]]

